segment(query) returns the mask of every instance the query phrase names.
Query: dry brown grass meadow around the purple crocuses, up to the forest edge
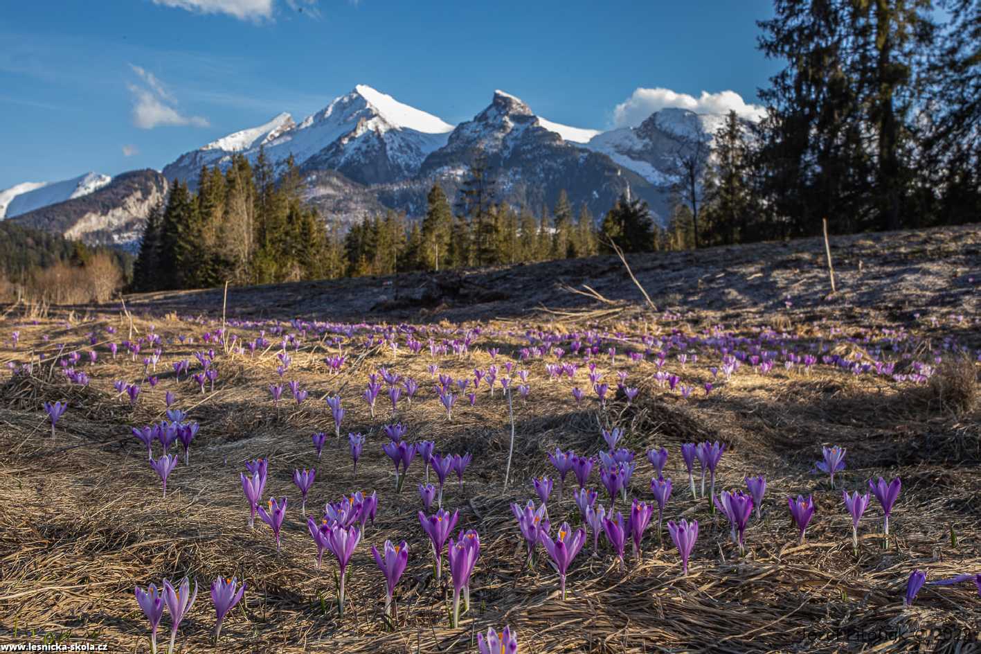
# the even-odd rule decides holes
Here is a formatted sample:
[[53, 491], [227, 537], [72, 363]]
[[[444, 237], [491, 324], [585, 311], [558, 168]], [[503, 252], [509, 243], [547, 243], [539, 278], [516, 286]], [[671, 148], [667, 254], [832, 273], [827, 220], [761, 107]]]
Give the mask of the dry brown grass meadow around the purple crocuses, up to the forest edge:
[[[631, 256], [654, 307], [616, 257], [596, 257], [231, 289], [224, 332], [221, 290], [128, 297], [129, 312], [119, 302], [0, 309], [0, 642], [47, 638], [147, 652], [149, 627], [133, 587], [187, 575], [200, 592], [181, 623], [181, 652], [476, 652], [478, 632], [505, 625], [529, 653], [978, 651], [978, 588], [929, 582], [981, 572], [981, 229], [836, 240], [833, 297], [822, 255], [823, 245], [804, 241]], [[257, 338], [268, 345], [241, 348]], [[433, 354], [431, 340], [447, 344], [446, 352]], [[142, 341], [139, 354], [130, 355], [125, 341]], [[409, 341], [421, 344], [418, 354]], [[120, 344], [115, 357], [110, 343]], [[596, 354], [586, 356], [590, 345]], [[143, 357], [155, 348], [160, 360], [147, 369]], [[189, 373], [199, 373], [195, 353], [208, 350], [218, 378], [202, 391], [172, 364], [188, 359]], [[290, 362], [280, 374], [284, 352]], [[727, 378], [726, 357], [737, 353], [745, 358]], [[816, 360], [786, 365], [795, 353]], [[325, 360], [335, 354], [346, 356], [338, 371]], [[772, 369], [761, 369], [768, 359]], [[572, 379], [551, 378], [546, 366], [561, 362], [579, 366]], [[591, 362], [609, 384], [605, 403], [588, 378]], [[513, 364], [510, 375], [505, 363]], [[876, 363], [894, 367], [877, 372]], [[527, 398], [512, 395], [513, 422], [500, 386], [491, 394], [486, 383], [468, 389], [473, 406], [454, 384], [447, 418], [439, 375], [472, 382], [475, 368], [490, 365], [515, 384], [527, 371]], [[419, 391], [393, 413], [386, 386], [373, 417], [362, 394], [380, 368], [414, 379]], [[87, 384], [70, 381], [68, 369], [87, 375]], [[633, 402], [618, 390], [618, 372], [639, 390]], [[694, 391], [683, 397], [659, 372]], [[158, 378], [153, 387], [149, 376]], [[118, 380], [140, 386], [135, 403], [114, 388]], [[289, 381], [307, 400], [297, 405], [284, 389], [274, 406], [269, 386]], [[585, 392], [580, 404], [573, 387]], [[167, 392], [200, 429], [165, 499], [130, 428], [165, 419]], [[345, 410], [340, 440], [330, 396]], [[68, 409], [52, 436], [43, 405], [56, 401]], [[411, 464], [396, 493], [382, 450], [384, 425], [396, 421], [409, 442], [473, 456], [463, 488], [451, 474], [443, 498], [459, 511], [457, 529], [475, 529], [481, 540], [470, 610], [456, 628], [447, 617], [445, 559], [437, 581], [417, 517], [423, 464]], [[700, 527], [690, 572], [682, 573], [666, 526], [659, 536], [651, 524], [639, 559], [628, 546], [622, 569], [605, 538], [594, 551], [589, 530], [562, 601], [541, 546], [535, 566], [525, 566], [510, 504], [539, 503], [532, 477], [556, 476], [547, 453], [598, 456], [606, 449], [601, 430], [613, 427], [626, 434], [621, 447], [636, 454], [630, 497], [653, 502], [645, 451], [667, 449], [664, 476], [674, 492], [664, 521], [696, 518]], [[311, 443], [317, 431], [328, 433], [319, 462]], [[356, 476], [348, 432], [367, 439]], [[749, 475], [767, 479], [745, 555], [730, 541], [726, 518], [689, 490], [680, 448], [702, 441], [726, 445], [717, 491], [745, 490]], [[848, 451], [834, 488], [813, 471], [822, 447], [832, 445]], [[279, 553], [265, 523], [248, 526], [239, 473], [256, 458], [269, 461], [265, 496], [288, 496]], [[294, 469], [311, 466], [317, 477], [307, 516], [354, 491], [378, 493], [377, 518], [347, 570], [342, 618], [336, 564], [328, 552], [315, 569], [317, 550], [292, 483]], [[872, 498], [856, 556], [842, 491], [867, 490], [879, 476], [903, 484], [888, 546]], [[583, 522], [575, 486], [569, 474], [560, 497], [556, 482], [548, 500], [553, 531], [565, 520]], [[608, 508], [598, 463], [589, 486]], [[788, 510], [788, 497], [798, 495], [812, 495], [815, 505], [802, 544]], [[630, 507], [618, 501], [615, 510], [626, 516]], [[370, 549], [386, 539], [409, 544], [391, 620]], [[914, 569], [927, 572], [928, 583], [906, 607]], [[208, 587], [232, 575], [247, 588], [214, 645]], [[161, 623], [162, 649], [169, 621]]]

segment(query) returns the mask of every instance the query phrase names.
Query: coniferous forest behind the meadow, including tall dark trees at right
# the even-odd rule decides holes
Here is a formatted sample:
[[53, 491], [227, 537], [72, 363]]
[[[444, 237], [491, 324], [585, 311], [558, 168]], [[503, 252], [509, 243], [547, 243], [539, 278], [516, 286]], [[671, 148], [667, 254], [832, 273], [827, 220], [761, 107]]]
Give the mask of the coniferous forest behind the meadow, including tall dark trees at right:
[[478, 153], [457, 197], [342, 229], [302, 201], [290, 162], [202, 169], [153, 212], [136, 290], [181, 289], [684, 249], [976, 221], [981, 215], [981, 2], [775, 0], [758, 47], [783, 64], [765, 117], [730, 114], [711, 152], [681, 153], [663, 226], [623, 196], [595, 219], [512, 206]]

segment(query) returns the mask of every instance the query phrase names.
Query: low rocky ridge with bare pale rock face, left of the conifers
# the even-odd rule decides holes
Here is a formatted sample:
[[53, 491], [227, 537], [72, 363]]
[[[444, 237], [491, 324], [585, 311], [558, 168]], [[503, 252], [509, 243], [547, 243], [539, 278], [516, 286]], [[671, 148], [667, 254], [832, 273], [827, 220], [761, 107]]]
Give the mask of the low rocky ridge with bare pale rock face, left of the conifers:
[[86, 245], [117, 245], [133, 249], [146, 217], [167, 193], [167, 180], [153, 170], [118, 175], [87, 195], [35, 209], [9, 220], [54, 232]]

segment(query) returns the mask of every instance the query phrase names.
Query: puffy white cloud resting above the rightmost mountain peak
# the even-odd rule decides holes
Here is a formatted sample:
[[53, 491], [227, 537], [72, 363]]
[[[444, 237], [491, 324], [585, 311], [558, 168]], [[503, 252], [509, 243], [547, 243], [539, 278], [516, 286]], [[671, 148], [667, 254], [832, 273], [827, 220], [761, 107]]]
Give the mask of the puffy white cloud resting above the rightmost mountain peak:
[[735, 111], [740, 118], [758, 121], [765, 113], [763, 107], [747, 104], [743, 97], [732, 90], [709, 93], [701, 91], [695, 97], [688, 93], [676, 93], [670, 88], [637, 88], [625, 101], [613, 110], [616, 127], [636, 127], [650, 114], [666, 107], [688, 109], [697, 114], [727, 114]]

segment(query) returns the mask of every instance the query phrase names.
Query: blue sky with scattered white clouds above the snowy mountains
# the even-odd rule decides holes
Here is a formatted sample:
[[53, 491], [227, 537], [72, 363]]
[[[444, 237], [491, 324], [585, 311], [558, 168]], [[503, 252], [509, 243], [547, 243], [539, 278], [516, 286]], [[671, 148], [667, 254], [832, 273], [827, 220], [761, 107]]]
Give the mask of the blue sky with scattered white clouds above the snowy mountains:
[[771, 0], [60, 0], [0, 15], [0, 189], [161, 169], [364, 83], [457, 124], [500, 88], [579, 128], [759, 111]]

